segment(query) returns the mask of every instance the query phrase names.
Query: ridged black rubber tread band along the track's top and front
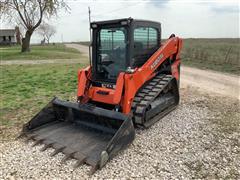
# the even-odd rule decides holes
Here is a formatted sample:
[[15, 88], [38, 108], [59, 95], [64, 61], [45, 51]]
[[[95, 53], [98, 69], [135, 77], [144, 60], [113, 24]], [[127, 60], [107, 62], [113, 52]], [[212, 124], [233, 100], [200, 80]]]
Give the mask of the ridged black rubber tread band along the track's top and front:
[[158, 97], [173, 79], [172, 75], [159, 74], [148, 81], [136, 94], [132, 103], [133, 119], [136, 125], [144, 125], [148, 106]]

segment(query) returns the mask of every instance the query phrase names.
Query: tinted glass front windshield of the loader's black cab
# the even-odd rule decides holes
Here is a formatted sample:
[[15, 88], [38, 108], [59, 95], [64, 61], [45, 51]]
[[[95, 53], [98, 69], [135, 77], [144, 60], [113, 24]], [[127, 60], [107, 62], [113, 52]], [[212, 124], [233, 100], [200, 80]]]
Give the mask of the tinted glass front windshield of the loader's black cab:
[[97, 75], [101, 79], [116, 79], [126, 69], [127, 29], [102, 28], [98, 32]]

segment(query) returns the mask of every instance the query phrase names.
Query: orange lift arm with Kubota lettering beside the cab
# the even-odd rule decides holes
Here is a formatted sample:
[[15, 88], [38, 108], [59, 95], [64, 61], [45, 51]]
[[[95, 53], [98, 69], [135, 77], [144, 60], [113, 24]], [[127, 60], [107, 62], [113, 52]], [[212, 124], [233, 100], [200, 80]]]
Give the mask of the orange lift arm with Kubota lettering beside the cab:
[[142, 67], [136, 69], [133, 74], [125, 74], [125, 94], [122, 102], [123, 113], [128, 114], [131, 111], [131, 103], [138, 89], [154, 77], [156, 69], [166, 61], [167, 58], [173, 55], [175, 55], [176, 59], [172, 64], [172, 75], [178, 80], [178, 66], [180, 64], [179, 53], [181, 47], [182, 40], [178, 37], [172, 37], [168, 39]]

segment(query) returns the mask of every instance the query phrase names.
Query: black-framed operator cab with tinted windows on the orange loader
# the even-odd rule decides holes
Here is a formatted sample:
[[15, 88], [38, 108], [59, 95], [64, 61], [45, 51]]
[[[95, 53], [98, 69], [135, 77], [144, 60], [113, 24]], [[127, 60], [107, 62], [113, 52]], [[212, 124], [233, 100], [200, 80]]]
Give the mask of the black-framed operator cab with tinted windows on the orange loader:
[[115, 83], [120, 72], [142, 66], [161, 44], [158, 22], [126, 18], [92, 22], [91, 29], [92, 77], [98, 83]]

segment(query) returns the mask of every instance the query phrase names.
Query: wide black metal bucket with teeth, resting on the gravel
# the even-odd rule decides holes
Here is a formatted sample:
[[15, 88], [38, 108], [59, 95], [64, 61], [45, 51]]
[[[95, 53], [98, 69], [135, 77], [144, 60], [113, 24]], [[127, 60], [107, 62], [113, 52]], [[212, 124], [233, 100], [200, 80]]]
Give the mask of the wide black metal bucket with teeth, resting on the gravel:
[[23, 126], [21, 136], [44, 144], [42, 150], [54, 148], [52, 155], [64, 153], [63, 162], [74, 158], [75, 167], [86, 163], [95, 171], [133, 141], [135, 130], [122, 113], [54, 98]]

